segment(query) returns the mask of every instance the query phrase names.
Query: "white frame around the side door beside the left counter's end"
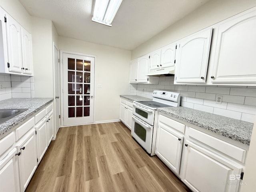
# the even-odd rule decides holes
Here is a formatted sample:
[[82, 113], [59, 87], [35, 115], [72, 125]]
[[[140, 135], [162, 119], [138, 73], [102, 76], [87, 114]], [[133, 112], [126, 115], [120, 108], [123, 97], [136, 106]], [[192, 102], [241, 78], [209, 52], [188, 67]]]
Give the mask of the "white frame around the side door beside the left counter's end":
[[[54, 44], [54, 42], [52, 42], [52, 62], [53, 62], [53, 65], [55, 66], [55, 58], [54, 58], [54, 48], [56, 48], [57, 50], [58, 50], [58, 60], [60, 59], [60, 50], [58, 49], [58, 47], [56, 46], [56, 44]], [[56, 126], [56, 121], [60, 121], [60, 119], [58, 118], [58, 119], [56, 119], [56, 102], [55, 102], [55, 96], [60, 96], [60, 60], [59, 60], [59, 62], [58, 62], [58, 75], [59, 75], [59, 81], [58, 81], [58, 84], [59, 84], [59, 94], [58, 95], [56, 95], [55, 94], [55, 89], [56, 89], [56, 87], [55, 87], [55, 74], [56, 74], [56, 71], [54, 70], [55, 69], [55, 67], [53, 66], [53, 100], [54, 100], [54, 113], [53, 113], [53, 116], [54, 116], [54, 132], [53, 132], [53, 140], [55, 140], [55, 138], [56, 138], [56, 135], [57, 135], [57, 132], [58, 132], [58, 130], [59, 130], [59, 128], [60, 127], [55, 127]], [[60, 113], [61, 112], [61, 105], [59, 104], [59, 114], [61, 114]], [[60, 121], [60, 123], [59, 123], [59, 126], [61, 126], [61, 121]]]

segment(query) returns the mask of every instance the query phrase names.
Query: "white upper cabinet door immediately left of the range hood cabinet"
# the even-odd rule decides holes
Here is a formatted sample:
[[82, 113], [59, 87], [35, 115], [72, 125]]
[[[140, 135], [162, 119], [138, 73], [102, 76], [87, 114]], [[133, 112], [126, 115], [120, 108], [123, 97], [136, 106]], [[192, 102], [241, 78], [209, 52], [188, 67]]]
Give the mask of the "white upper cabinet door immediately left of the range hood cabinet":
[[149, 55], [144, 55], [138, 58], [138, 83], [146, 83], [148, 82], [148, 60]]

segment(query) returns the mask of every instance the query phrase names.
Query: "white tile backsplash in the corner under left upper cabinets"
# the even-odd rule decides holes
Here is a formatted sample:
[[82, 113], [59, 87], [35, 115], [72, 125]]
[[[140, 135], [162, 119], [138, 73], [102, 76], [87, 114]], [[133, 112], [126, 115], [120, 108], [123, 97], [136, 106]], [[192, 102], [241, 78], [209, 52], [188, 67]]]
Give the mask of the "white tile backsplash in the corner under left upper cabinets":
[[0, 100], [9, 98], [34, 98], [34, 77], [0, 74]]

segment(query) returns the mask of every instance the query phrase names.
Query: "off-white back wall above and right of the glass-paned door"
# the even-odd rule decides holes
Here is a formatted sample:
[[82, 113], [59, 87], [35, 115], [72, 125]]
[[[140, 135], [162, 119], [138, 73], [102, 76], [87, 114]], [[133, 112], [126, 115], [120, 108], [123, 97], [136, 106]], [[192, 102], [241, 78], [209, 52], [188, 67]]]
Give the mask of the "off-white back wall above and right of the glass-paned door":
[[[119, 48], [59, 37], [60, 50], [96, 56], [95, 121], [119, 119], [120, 94], [128, 94], [131, 52]], [[97, 88], [102, 84], [102, 88]]]

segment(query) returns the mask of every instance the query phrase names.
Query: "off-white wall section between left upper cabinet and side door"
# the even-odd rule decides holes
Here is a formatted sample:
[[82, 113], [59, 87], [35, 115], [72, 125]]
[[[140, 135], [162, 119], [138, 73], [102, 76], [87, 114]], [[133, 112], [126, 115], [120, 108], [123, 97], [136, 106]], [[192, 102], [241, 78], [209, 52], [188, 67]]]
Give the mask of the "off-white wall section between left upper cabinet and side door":
[[52, 98], [52, 21], [32, 17], [32, 46], [35, 97]]

